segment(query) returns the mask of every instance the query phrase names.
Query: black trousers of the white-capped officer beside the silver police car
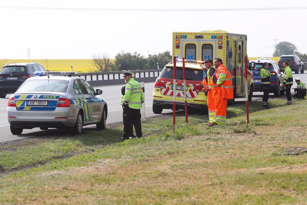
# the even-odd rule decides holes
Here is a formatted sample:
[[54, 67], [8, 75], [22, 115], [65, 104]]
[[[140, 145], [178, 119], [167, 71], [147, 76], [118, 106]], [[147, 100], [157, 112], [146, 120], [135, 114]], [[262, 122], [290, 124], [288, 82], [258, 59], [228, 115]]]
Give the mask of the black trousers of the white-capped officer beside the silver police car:
[[133, 126], [138, 138], [143, 136], [141, 125], [141, 109], [132, 109], [126, 107], [123, 111], [124, 121], [124, 139], [129, 139], [131, 133], [133, 133]]

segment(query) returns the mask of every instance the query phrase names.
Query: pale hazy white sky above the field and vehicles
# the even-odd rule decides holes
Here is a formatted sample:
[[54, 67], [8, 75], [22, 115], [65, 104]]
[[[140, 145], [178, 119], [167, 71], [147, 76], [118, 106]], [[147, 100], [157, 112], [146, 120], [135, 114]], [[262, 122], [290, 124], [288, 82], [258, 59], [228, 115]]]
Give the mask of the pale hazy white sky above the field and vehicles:
[[31, 59], [114, 58], [121, 50], [146, 57], [172, 51], [173, 31], [201, 30], [247, 34], [249, 57], [272, 56], [274, 39], [307, 53], [306, 11], [298, 0], [3, 0], [0, 59], [27, 59], [28, 48]]

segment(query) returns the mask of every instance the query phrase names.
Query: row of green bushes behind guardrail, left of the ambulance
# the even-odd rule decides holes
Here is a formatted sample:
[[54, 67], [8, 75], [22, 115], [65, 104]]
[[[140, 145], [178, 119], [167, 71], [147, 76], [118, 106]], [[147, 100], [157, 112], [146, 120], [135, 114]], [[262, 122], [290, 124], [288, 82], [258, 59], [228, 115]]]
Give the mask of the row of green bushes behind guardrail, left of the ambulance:
[[157, 63], [160, 69], [162, 69], [164, 65], [172, 60], [170, 51], [164, 51], [158, 54], [148, 54], [148, 57], [145, 58], [140, 53], [126, 53], [122, 50], [120, 53], [116, 54], [114, 62], [110, 60], [108, 53], [93, 53], [92, 58], [92, 65], [95, 70], [99, 72], [157, 69]]

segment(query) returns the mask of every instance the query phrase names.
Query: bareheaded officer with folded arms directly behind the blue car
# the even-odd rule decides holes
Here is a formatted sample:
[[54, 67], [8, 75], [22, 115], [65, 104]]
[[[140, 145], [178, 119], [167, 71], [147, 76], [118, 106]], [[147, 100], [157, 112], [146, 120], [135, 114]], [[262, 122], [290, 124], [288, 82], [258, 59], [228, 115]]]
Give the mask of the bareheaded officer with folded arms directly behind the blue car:
[[270, 93], [270, 78], [272, 77], [272, 74], [270, 71], [268, 71], [269, 64], [267, 62], [262, 64], [262, 67], [260, 69], [260, 77], [261, 77], [261, 87], [263, 90], [263, 97], [262, 97], [262, 107], [265, 108], [271, 108], [267, 105], [267, 100], [269, 99], [269, 93]]

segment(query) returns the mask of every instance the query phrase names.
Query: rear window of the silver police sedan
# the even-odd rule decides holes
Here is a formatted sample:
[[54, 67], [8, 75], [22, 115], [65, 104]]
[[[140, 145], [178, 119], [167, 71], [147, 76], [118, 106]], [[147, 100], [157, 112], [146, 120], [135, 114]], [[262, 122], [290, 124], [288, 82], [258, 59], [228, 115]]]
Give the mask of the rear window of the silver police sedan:
[[68, 80], [26, 80], [17, 92], [67, 92], [68, 85]]

